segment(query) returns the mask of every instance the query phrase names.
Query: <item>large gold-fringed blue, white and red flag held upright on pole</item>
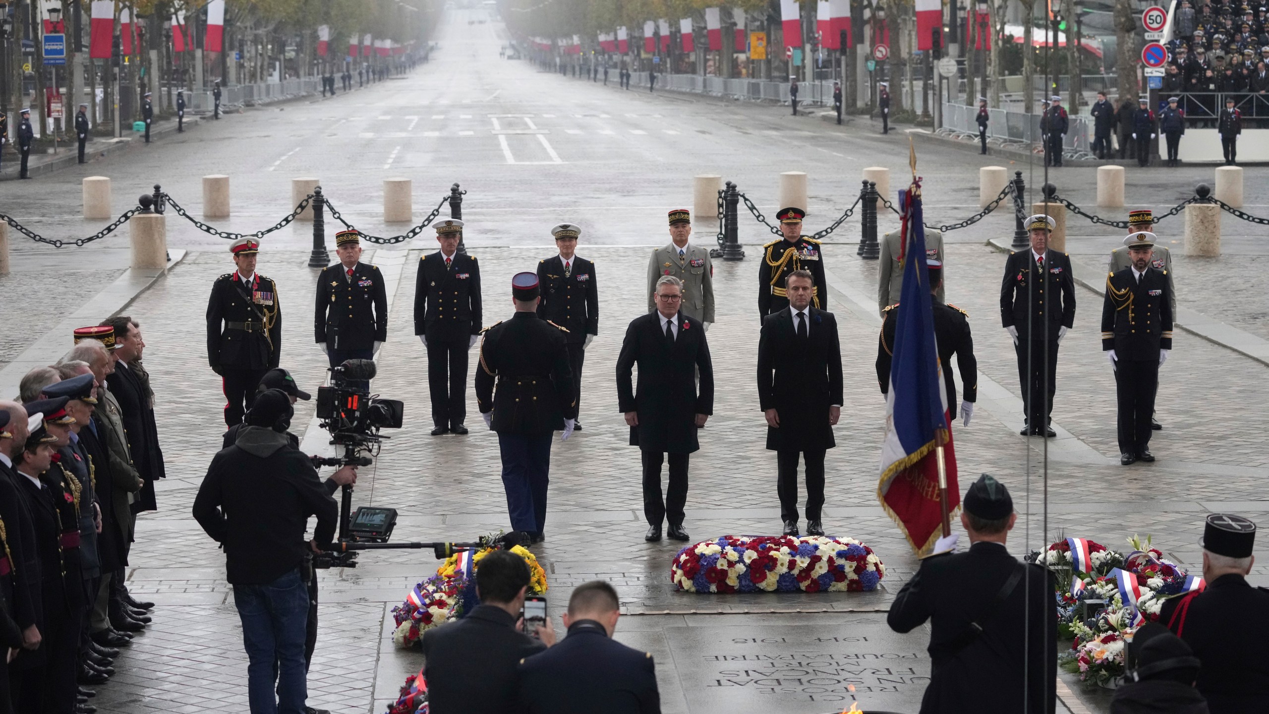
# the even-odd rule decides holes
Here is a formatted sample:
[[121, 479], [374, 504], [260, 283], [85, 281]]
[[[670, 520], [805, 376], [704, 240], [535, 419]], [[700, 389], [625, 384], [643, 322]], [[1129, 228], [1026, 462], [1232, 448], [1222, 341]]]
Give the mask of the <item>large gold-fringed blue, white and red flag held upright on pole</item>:
[[943, 511], [935, 448], [943, 445], [947, 466], [948, 512], [961, 506], [956, 450], [948, 424], [943, 367], [934, 340], [930, 281], [925, 267], [920, 183], [898, 194], [902, 208], [904, 288], [895, 325], [895, 346], [886, 393], [886, 438], [882, 442], [877, 499], [904, 531], [912, 550], [928, 553], [939, 537]]

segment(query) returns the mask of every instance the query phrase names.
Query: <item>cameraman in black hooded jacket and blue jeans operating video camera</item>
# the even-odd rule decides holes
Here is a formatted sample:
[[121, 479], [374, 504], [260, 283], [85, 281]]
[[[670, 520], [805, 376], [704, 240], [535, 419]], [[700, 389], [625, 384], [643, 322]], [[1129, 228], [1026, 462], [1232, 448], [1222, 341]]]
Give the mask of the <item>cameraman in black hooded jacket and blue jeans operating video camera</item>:
[[[194, 518], [225, 549], [226, 577], [233, 586], [250, 662], [253, 714], [307, 709], [310, 598], [302, 570], [310, 549], [330, 549], [339, 517], [339, 506], [322, 488], [312, 461], [286, 436], [293, 413], [282, 390], [256, 396], [246, 426], [233, 446], [212, 459], [194, 498]], [[312, 515], [317, 527], [306, 546]]]

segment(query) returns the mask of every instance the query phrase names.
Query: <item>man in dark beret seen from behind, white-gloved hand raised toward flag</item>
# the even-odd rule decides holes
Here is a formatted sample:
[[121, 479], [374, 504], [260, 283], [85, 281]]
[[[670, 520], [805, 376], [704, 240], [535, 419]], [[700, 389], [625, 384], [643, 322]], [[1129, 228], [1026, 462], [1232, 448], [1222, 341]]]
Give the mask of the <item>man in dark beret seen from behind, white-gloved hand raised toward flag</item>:
[[1009, 554], [1016, 520], [1005, 484], [983, 474], [961, 512], [968, 553], [950, 553], [956, 536], [940, 539], [890, 607], [886, 621], [897, 633], [930, 621], [933, 671], [921, 714], [961, 711], [967, 701], [1027, 714], [1052, 714], [1057, 705], [1053, 574]]

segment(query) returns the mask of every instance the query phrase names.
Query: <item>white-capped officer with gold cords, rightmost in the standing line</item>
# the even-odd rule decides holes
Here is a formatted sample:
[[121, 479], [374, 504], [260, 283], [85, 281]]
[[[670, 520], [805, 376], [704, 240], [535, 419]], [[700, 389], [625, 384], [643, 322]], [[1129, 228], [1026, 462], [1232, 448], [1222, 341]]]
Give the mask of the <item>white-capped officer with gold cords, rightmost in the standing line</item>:
[[1119, 404], [1119, 462], [1154, 461], [1150, 419], [1159, 367], [1173, 348], [1173, 304], [1167, 276], [1151, 266], [1155, 234], [1131, 236], [1132, 266], [1107, 277], [1101, 349], [1110, 361]]

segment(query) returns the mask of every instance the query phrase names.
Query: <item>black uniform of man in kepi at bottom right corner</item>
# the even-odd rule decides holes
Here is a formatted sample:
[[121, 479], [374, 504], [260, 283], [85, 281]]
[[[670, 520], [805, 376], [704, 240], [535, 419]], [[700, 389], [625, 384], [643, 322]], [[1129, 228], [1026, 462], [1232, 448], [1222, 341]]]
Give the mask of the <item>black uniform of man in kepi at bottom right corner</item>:
[[1269, 589], [1237, 573], [1164, 602], [1159, 621], [1203, 666], [1195, 686], [1212, 714], [1260, 714], [1269, 701]]

